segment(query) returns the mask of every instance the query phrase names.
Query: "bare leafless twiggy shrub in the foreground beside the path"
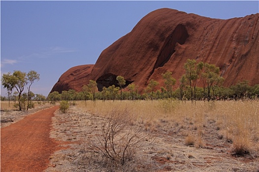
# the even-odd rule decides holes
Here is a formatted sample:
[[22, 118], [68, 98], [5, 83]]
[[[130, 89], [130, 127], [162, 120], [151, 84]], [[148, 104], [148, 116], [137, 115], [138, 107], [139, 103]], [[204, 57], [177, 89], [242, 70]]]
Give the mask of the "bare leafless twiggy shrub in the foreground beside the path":
[[92, 137], [87, 137], [86, 152], [101, 155], [116, 167], [130, 162], [135, 148], [146, 144], [151, 136], [140, 125], [133, 125], [132, 120], [127, 109], [114, 109], [106, 118], [97, 119], [96, 130]]

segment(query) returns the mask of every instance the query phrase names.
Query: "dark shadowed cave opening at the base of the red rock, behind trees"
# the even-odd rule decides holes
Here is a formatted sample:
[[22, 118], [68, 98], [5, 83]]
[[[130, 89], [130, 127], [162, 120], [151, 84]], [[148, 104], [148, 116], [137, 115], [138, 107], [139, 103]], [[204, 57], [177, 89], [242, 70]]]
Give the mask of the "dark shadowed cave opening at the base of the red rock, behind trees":
[[[97, 79], [97, 88], [98, 91], [102, 91], [102, 88], [105, 86], [106, 88], [108, 88], [109, 86], [116, 86], [119, 87], [119, 82], [116, 80], [117, 75], [111, 74], [111, 73], [107, 73], [105, 75], [102, 75], [101, 77], [99, 77]], [[129, 84], [131, 84], [133, 81], [128, 81], [126, 80], [126, 84], [125, 86], [123, 86], [123, 88], [129, 86]]]

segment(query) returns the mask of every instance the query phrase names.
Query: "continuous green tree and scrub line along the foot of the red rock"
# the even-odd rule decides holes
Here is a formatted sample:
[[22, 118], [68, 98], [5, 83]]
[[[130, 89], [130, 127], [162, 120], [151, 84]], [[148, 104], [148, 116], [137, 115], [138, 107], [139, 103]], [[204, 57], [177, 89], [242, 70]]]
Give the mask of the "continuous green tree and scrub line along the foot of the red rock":
[[[134, 83], [126, 85], [123, 76], [117, 76], [115, 84], [103, 87], [97, 92], [96, 81], [90, 80], [88, 85], [82, 87], [82, 91], [73, 89], [63, 90], [60, 94], [54, 91], [49, 94], [50, 101], [57, 100], [231, 100], [231, 99], [258, 99], [259, 85], [250, 86], [248, 81], [240, 81], [234, 86], [222, 86], [225, 79], [220, 75], [220, 68], [214, 64], [198, 62], [188, 59], [184, 64], [185, 74], [179, 80], [176, 88], [176, 80], [172, 72], [162, 74], [163, 85], [159, 88], [159, 82], [150, 80], [145, 90], [140, 92]], [[202, 87], [197, 83], [202, 82]], [[122, 91], [124, 90], [124, 91]], [[120, 93], [119, 93], [120, 92]]]

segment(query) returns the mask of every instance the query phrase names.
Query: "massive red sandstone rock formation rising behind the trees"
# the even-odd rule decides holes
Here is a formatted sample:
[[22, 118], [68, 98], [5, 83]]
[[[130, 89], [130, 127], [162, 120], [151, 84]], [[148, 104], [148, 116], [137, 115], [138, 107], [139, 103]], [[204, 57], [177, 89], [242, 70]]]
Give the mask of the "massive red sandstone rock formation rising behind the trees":
[[[188, 58], [219, 66], [224, 86], [243, 80], [259, 84], [259, 13], [222, 20], [168, 8], [155, 10], [103, 50], [94, 66], [66, 71], [52, 91], [81, 90], [89, 80], [97, 81], [102, 90], [116, 85], [119, 75], [140, 90], [152, 79], [162, 86], [161, 74], [171, 71], [179, 80]], [[74, 79], [72, 74], [81, 77]]]

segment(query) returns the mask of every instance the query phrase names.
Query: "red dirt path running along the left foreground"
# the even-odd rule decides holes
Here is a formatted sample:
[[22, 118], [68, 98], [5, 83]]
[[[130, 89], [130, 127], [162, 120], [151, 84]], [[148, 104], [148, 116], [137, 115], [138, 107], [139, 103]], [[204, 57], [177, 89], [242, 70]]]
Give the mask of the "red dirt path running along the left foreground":
[[51, 117], [58, 106], [1, 128], [1, 172], [42, 172], [58, 143], [50, 138]]

